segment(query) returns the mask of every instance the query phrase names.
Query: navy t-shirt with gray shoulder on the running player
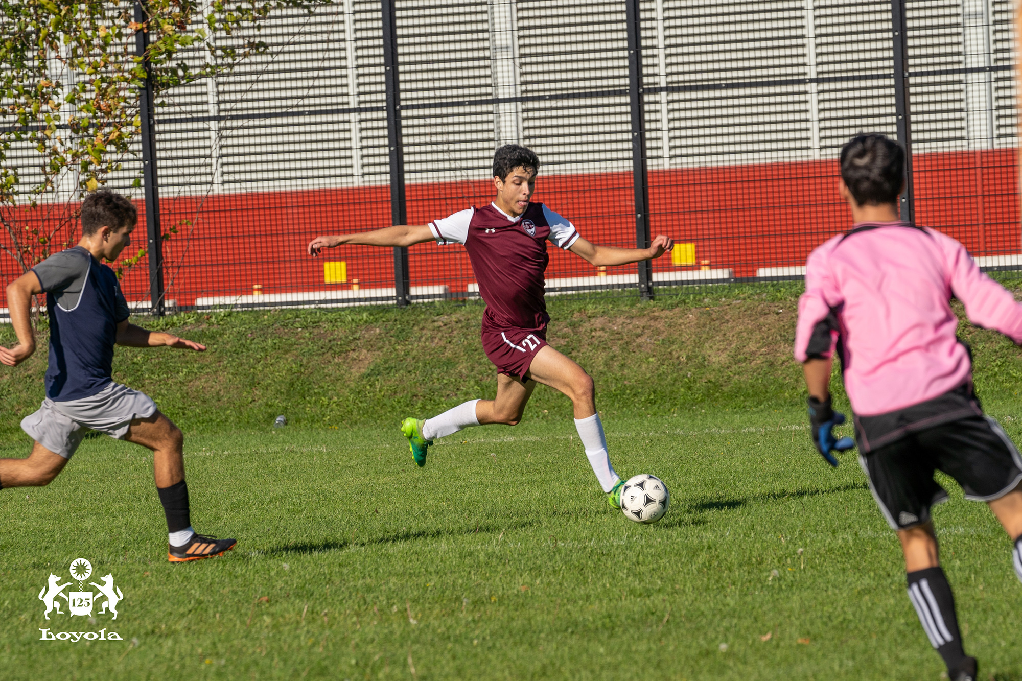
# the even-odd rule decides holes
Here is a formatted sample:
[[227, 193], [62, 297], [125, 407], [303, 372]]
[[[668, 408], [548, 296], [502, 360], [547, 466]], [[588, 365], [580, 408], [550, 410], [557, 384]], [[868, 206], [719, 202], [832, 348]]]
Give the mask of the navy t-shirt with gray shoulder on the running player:
[[46, 397], [68, 402], [99, 393], [113, 380], [118, 324], [131, 315], [117, 275], [82, 246], [50, 256], [32, 271], [50, 317]]

